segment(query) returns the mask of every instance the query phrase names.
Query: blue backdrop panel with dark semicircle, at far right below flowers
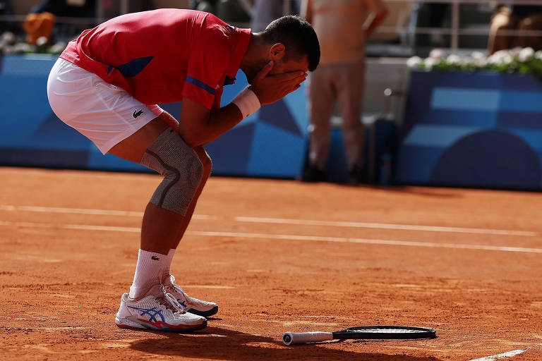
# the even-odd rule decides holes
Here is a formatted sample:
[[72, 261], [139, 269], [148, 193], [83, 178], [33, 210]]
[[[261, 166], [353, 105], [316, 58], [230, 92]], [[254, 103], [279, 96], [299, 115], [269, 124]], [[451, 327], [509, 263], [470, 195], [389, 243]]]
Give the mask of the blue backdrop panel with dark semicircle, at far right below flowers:
[[542, 188], [542, 82], [412, 71], [397, 183]]

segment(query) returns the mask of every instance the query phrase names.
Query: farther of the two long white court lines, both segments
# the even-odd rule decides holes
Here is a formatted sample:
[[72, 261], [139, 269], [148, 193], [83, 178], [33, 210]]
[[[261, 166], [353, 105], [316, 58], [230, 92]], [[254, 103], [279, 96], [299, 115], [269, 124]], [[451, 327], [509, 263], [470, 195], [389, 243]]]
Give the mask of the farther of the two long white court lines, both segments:
[[[42, 212], [42, 213], [66, 213], [66, 214], [98, 214], [105, 216], [135, 216], [143, 217], [143, 212], [128, 212], [106, 209], [80, 209], [80, 208], [61, 208], [61, 207], [35, 207], [35, 206], [14, 206], [0, 204], [1, 211], [22, 211], [22, 212]], [[204, 214], [194, 214], [194, 219], [216, 220], [217, 216], [207, 216]], [[380, 228], [380, 229], [400, 229], [404, 231], [431, 231], [431, 232], [452, 232], [452, 233], [478, 233], [493, 235], [519, 235], [535, 236], [536, 232], [531, 231], [509, 231], [504, 229], [485, 229], [485, 228], [461, 228], [461, 227], [440, 227], [440, 226], [419, 226], [409, 224], [385, 224], [385, 223], [364, 223], [347, 221], [314, 221], [306, 219], [282, 219], [282, 218], [263, 218], [263, 217], [234, 217], [239, 222], [252, 223], [272, 223], [272, 224], [297, 224], [308, 226], [334, 226], [334, 227], [353, 227], [353, 228]]]

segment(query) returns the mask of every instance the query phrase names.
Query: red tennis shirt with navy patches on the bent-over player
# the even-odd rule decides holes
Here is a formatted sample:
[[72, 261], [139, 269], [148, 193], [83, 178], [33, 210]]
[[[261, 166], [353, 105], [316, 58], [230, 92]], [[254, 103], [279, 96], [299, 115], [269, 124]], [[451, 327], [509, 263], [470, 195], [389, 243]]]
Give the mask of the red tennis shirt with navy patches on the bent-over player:
[[129, 13], [85, 30], [62, 59], [122, 87], [144, 104], [220, 106], [251, 38], [210, 13], [167, 8]]

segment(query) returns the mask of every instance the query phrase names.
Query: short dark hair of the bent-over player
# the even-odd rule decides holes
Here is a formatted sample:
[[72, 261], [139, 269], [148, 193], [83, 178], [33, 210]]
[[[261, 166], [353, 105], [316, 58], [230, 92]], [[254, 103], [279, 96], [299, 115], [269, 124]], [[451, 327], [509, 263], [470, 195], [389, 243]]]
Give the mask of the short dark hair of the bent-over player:
[[307, 56], [308, 70], [320, 63], [320, 43], [311, 24], [299, 16], [283, 16], [273, 20], [262, 32], [265, 42], [282, 43], [286, 47], [285, 60]]

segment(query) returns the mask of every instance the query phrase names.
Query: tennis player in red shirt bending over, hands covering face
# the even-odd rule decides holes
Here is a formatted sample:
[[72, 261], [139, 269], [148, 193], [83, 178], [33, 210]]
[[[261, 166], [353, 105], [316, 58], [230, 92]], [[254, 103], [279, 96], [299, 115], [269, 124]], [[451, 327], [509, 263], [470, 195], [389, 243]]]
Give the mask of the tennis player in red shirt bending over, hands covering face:
[[[143, 164], [164, 178], [147, 204], [133, 283], [116, 325], [193, 331], [217, 313], [174, 283], [171, 260], [210, 176], [203, 149], [237, 123], [300, 87], [320, 60], [311, 25], [279, 18], [262, 32], [232, 27], [210, 13], [159, 9], [130, 13], [70, 42], [47, 82], [64, 123], [103, 154]], [[237, 71], [250, 86], [220, 106]], [[176, 121], [157, 104], [183, 103]]]

